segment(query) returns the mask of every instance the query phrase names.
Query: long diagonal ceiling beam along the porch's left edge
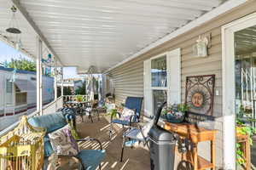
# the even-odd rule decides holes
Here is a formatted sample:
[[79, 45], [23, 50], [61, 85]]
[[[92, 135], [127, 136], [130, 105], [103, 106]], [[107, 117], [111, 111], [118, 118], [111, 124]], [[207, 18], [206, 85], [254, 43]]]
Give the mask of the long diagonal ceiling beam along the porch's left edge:
[[20, 10], [20, 13], [23, 15], [23, 17], [26, 19], [26, 21], [29, 23], [29, 25], [32, 26], [33, 30], [38, 34], [38, 37], [41, 39], [42, 42], [44, 42], [44, 45], [49, 49], [50, 53], [53, 54], [55, 56], [55, 58], [59, 61], [59, 63], [62, 65], [61, 59], [55, 53], [55, 50], [53, 48], [51, 48], [51, 46], [49, 45], [49, 42], [47, 41], [46, 37], [44, 37], [43, 32], [38, 28], [36, 23], [29, 16], [29, 14], [26, 11], [26, 8], [23, 8], [20, 5], [19, 0], [11, 0], [11, 1], [14, 3], [15, 7]]

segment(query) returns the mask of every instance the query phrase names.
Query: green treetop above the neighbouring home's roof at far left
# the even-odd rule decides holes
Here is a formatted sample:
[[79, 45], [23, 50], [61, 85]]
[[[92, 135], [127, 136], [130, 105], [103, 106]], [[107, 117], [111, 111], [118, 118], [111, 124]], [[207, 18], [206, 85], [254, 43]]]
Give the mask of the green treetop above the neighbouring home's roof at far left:
[[5, 61], [5, 63], [9, 68], [15, 68], [22, 71], [37, 71], [36, 63], [30, 59], [20, 57], [20, 59], [11, 59], [11, 61]]

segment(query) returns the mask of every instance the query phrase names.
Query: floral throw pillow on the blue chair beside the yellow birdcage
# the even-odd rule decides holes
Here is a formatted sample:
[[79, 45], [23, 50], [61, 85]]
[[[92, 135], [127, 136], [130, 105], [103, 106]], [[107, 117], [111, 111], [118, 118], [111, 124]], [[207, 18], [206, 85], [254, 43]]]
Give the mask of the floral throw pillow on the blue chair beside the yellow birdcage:
[[79, 154], [79, 144], [73, 138], [69, 125], [48, 135], [55, 154], [61, 156], [76, 156]]

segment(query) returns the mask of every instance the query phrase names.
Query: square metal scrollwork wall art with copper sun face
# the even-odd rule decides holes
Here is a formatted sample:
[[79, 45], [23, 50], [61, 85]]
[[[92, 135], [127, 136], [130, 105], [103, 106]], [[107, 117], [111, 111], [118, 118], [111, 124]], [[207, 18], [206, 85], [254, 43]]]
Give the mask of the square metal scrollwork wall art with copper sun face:
[[187, 77], [185, 102], [189, 112], [212, 116], [215, 75]]

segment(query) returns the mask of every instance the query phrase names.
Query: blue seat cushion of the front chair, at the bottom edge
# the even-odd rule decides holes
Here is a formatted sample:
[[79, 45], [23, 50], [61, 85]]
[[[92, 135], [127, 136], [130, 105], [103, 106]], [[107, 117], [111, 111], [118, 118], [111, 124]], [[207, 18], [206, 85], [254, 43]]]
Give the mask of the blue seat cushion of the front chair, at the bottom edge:
[[106, 157], [106, 150], [81, 150], [78, 157], [85, 170], [95, 170]]

